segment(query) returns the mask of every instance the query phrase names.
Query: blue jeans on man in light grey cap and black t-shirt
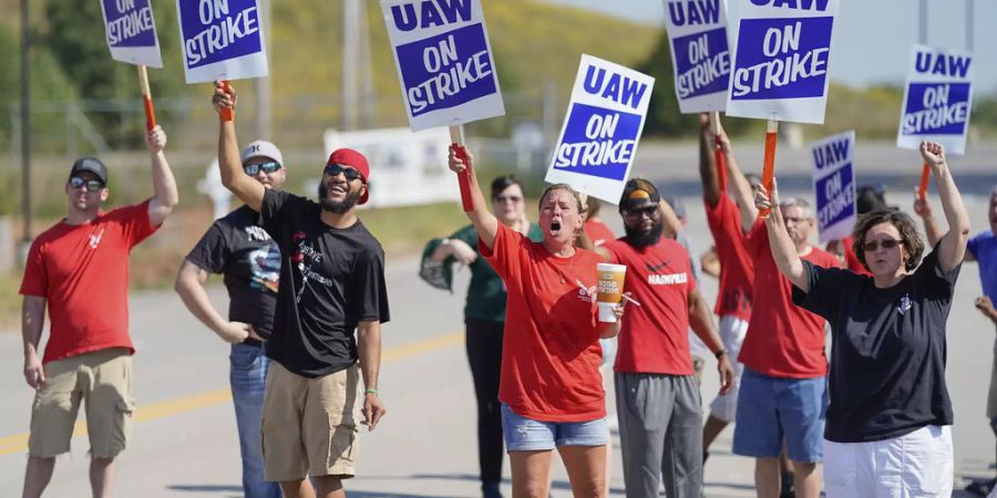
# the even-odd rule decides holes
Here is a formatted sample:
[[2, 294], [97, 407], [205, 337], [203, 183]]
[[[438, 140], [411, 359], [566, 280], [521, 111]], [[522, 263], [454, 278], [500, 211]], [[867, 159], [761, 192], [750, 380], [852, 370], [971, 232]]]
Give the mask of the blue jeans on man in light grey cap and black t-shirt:
[[243, 491], [246, 498], [280, 498], [280, 485], [264, 480], [260, 421], [270, 360], [263, 346], [233, 344], [228, 356], [232, 401], [243, 455]]

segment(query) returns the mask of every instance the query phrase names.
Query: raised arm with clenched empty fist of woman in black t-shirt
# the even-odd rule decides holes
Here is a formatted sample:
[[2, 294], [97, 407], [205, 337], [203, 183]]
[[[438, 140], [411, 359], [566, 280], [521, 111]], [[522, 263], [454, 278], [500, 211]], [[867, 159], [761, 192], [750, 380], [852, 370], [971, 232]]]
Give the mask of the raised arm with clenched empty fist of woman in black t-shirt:
[[966, 253], [966, 242], [969, 240], [969, 215], [963, 206], [963, 196], [952, 179], [952, 172], [945, 162], [945, 147], [935, 142], [922, 142], [921, 155], [925, 164], [931, 166], [935, 176], [935, 185], [938, 186], [938, 197], [942, 198], [942, 209], [948, 221], [948, 231], [942, 236], [936, 250], [938, 251], [938, 266], [942, 271], [949, 272], [963, 262]]

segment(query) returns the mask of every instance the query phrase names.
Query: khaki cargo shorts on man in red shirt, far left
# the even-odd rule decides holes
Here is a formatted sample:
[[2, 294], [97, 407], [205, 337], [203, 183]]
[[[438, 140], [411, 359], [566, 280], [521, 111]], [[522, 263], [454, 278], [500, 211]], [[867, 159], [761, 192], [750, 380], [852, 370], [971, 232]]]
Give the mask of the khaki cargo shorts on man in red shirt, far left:
[[132, 356], [122, 347], [44, 364], [45, 384], [34, 395], [28, 453], [48, 458], [70, 450], [81, 402], [86, 405], [90, 453], [117, 456], [132, 432]]

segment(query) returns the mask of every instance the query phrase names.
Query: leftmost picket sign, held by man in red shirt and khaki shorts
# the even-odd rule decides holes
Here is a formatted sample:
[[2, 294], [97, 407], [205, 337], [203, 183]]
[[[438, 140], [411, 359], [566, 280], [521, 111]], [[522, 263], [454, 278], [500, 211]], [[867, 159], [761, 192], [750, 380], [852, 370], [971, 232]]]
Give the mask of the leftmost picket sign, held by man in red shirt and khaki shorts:
[[101, 0], [111, 59], [162, 68], [156, 21], [150, 0]]

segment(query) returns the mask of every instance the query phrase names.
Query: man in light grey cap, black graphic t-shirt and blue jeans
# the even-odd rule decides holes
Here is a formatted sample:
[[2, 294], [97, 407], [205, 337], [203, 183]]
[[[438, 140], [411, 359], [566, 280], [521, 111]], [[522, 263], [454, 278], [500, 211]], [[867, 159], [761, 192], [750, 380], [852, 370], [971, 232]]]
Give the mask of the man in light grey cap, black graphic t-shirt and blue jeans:
[[[256, 141], [243, 149], [241, 159], [246, 175], [265, 188], [284, 187], [287, 172], [276, 145]], [[225, 276], [228, 320], [215, 310], [204, 289], [208, 273]], [[244, 205], [212, 225], [187, 255], [174, 286], [191, 313], [232, 344], [229, 384], [247, 498], [280, 498], [277, 483], [264, 479], [259, 437], [270, 363], [264, 343], [274, 329], [279, 276], [280, 250], [259, 226], [259, 214]]]

